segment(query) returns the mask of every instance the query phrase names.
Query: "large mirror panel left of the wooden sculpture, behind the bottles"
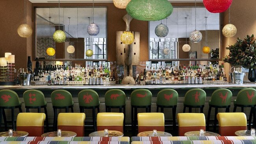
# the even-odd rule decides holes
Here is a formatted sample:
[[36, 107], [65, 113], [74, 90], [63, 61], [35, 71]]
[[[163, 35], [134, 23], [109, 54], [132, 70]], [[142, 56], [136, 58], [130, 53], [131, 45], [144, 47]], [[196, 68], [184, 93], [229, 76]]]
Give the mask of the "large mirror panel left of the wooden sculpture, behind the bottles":
[[[60, 11], [58, 8], [36, 8], [35, 11], [35, 57], [39, 60], [107, 60], [106, 7], [95, 7], [94, 18], [92, 7], [62, 7]], [[93, 22], [100, 28], [95, 36], [87, 32], [88, 25]], [[54, 42], [53, 34], [59, 29], [65, 31], [65, 42]], [[47, 54], [48, 48], [53, 48], [55, 54]], [[87, 50], [92, 50], [93, 55], [86, 56]]]

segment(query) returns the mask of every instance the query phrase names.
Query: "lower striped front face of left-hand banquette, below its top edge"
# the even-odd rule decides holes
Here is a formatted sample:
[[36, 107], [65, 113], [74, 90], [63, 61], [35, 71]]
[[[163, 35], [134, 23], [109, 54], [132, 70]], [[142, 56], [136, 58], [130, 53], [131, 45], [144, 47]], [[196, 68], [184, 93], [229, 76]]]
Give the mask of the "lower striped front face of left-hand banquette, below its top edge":
[[0, 144], [129, 144], [129, 142], [109, 142], [109, 141], [0, 141]]

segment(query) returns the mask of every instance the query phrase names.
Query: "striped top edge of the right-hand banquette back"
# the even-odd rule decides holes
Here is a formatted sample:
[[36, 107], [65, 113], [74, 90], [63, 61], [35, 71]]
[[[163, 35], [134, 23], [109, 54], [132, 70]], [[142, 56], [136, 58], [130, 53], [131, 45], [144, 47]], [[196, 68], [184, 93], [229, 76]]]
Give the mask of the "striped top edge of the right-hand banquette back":
[[256, 140], [256, 137], [252, 136], [246, 136], [246, 137], [241, 137], [241, 136], [228, 136], [228, 137], [206, 137], [206, 136], [193, 136], [193, 137], [132, 137], [131, 141], [171, 141], [171, 140]]

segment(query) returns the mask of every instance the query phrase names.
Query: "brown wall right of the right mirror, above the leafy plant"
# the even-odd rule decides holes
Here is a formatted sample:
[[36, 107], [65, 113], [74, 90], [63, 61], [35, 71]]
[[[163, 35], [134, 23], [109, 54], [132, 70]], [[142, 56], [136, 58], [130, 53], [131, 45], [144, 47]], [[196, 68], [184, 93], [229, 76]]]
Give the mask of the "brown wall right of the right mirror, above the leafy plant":
[[[237, 33], [234, 37], [226, 38], [223, 36], [222, 56], [228, 55], [229, 51], [225, 48], [236, 42], [237, 37], [243, 39], [246, 35], [256, 34], [256, 13], [255, 0], [233, 0], [230, 7], [230, 22], [237, 28]], [[228, 11], [223, 14], [223, 27], [228, 24]], [[226, 74], [230, 65], [224, 63]], [[247, 76], [245, 76], [247, 78]]]

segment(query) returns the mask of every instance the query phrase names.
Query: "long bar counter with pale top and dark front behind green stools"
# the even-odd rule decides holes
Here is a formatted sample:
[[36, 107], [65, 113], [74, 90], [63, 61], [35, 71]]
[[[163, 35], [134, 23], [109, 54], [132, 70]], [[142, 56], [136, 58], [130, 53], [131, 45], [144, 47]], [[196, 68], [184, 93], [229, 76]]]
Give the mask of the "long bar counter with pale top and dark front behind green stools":
[[[104, 100], [105, 92], [108, 91], [109, 89], [121, 89], [126, 94], [126, 117], [125, 118], [126, 118], [126, 124], [127, 123], [129, 124], [131, 122], [130, 94], [131, 94], [132, 90], [135, 90], [135, 89], [144, 88], [144, 89], [149, 89], [152, 92], [151, 112], [156, 112], [156, 96], [157, 96], [157, 93], [161, 89], [165, 89], [165, 88], [175, 89], [179, 94], [176, 113], [182, 113], [184, 96], [185, 96], [187, 90], [193, 89], [193, 88], [201, 88], [207, 94], [205, 107], [204, 107], [204, 114], [205, 114], [205, 116], [207, 116], [208, 108], [209, 108], [208, 102], [209, 102], [210, 96], [214, 90], [219, 89], [219, 88], [227, 88], [232, 91], [233, 98], [231, 101], [230, 111], [233, 111], [233, 109], [234, 109], [233, 101], [236, 100], [237, 93], [239, 92], [239, 90], [248, 88], [248, 87], [256, 89], [256, 84], [255, 83], [245, 83], [242, 85], [236, 85], [236, 84], [226, 84], [226, 85], [180, 84], [180, 85], [77, 85], [77, 86], [76, 85], [36, 85], [36, 86], [0, 86], [0, 89], [11, 89], [11, 90], [14, 90], [15, 92], [17, 92], [17, 94], [19, 95], [20, 101], [22, 102], [22, 111], [23, 112], [26, 111], [25, 106], [24, 106], [24, 100], [22, 97], [23, 92], [28, 89], [41, 90], [44, 93], [45, 100], [47, 102], [47, 111], [48, 111], [50, 124], [53, 122], [53, 109], [52, 109], [52, 102], [51, 102], [50, 94], [52, 93], [52, 91], [54, 91], [56, 89], [65, 89], [65, 90], [68, 90], [72, 94], [73, 101], [74, 101], [74, 112], [76, 112], [76, 113], [79, 113], [79, 105], [78, 105], [77, 96], [78, 96], [78, 93], [80, 92], [80, 90], [83, 90], [83, 89], [95, 90], [99, 94], [99, 97], [100, 97], [99, 98], [100, 112], [105, 112], [105, 100]], [[240, 112], [240, 111], [241, 110], [238, 108], [237, 112]], [[30, 112], [37, 112], [37, 110], [31, 110]], [[65, 112], [65, 110], [61, 110], [60, 112]], [[113, 109], [112, 112], [119, 112], [119, 110]], [[138, 113], [140, 113], [140, 112], [145, 112], [145, 109], [139, 109]], [[193, 109], [192, 112], [198, 113], [199, 109], [196, 109], [196, 110]], [[219, 109], [219, 112], [225, 112], [225, 109]], [[250, 112], [250, 109], [245, 108], [245, 113], [248, 117], [249, 117], [249, 112]], [[15, 110], [15, 113], [16, 113], [15, 115], [17, 115], [18, 111]], [[92, 120], [91, 110], [85, 110], [85, 114], [86, 114], [85, 121]], [[164, 114], [165, 114], [165, 120], [172, 119], [171, 109], [165, 109]], [[212, 112], [211, 112], [211, 120], [214, 119], [213, 114], [214, 114], [214, 109], [212, 109]], [[8, 116], [7, 116], [7, 118], [8, 118]]]

